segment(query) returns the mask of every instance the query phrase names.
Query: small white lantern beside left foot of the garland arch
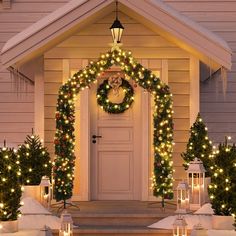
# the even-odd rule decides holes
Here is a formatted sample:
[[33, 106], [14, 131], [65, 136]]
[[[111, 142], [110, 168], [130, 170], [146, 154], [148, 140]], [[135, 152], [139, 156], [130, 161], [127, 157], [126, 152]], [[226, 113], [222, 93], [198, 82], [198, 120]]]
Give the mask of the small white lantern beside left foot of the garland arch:
[[44, 207], [49, 208], [51, 203], [51, 183], [47, 176], [43, 176], [40, 186], [40, 202]]

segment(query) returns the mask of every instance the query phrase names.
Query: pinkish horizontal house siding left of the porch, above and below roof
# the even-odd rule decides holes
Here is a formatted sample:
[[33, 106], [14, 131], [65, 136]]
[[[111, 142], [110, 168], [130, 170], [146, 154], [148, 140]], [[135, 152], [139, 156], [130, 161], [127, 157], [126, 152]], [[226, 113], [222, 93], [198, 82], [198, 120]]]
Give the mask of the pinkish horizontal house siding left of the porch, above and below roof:
[[[9, 9], [3, 9], [0, 3], [0, 50], [8, 39], [68, 1], [14, 0]], [[34, 127], [34, 86], [20, 86], [7, 70], [0, 71], [0, 146], [6, 139], [17, 147]]]

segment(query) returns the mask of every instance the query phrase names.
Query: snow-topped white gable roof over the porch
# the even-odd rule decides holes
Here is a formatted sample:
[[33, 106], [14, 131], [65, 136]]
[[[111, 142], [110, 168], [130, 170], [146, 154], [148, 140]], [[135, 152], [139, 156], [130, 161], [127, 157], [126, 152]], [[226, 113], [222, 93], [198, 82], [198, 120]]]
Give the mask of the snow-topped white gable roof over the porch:
[[[42, 54], [78, 29], [112, 11], [113, 0], [72, 0], [9, 39], [1, 51], [4, 67]], [[119, 0], [120, 9], [203, 61], [231, 68], [227, 43], [159, 0]]]

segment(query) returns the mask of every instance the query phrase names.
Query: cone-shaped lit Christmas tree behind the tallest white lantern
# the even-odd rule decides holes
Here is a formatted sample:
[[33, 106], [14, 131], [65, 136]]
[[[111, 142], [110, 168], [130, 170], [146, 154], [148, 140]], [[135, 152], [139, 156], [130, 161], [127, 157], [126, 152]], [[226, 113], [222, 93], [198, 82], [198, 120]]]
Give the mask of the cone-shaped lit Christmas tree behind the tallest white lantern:
[[198, 113], [197, 119], [190, 129], [190, 138], [186, 152], [181, 154], [184, 159], [184, 168], [187, 169], [189, 162], [195, 157], [200, 158], [206, 169], [206, 176], [210, 175], [213, 165], [212, 142], [208, 138], [207, 127]]

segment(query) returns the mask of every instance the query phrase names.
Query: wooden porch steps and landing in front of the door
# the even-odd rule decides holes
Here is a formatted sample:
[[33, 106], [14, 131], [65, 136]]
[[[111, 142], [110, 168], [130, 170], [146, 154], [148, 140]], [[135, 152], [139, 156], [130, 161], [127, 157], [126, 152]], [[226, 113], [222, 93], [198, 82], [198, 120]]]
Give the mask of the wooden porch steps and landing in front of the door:
[[[172, 235], [172, 230], [149, 229], [147, 226], [174, 214], [174, 202], [169, 202], [165, 211], [160, 202], [90, 201], [75, 204], [79, 208], [67, 209], [73, 217], [74, 225], [78, 226], [74, 236]], [[58, 212], [58, 208], [53, 210], [54, 213]], [[58, 236], [58, 232], [54, 232], [54, 235]]]

